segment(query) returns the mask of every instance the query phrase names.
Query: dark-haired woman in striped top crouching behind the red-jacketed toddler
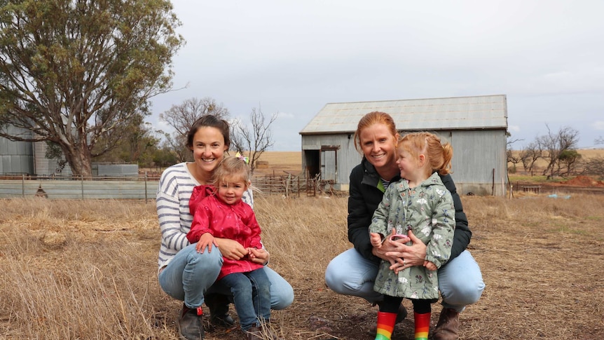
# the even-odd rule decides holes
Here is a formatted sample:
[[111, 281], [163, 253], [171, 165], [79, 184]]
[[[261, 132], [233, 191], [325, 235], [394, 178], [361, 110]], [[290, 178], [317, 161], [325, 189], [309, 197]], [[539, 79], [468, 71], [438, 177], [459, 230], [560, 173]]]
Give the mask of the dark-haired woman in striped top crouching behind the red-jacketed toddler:
[[[230, 143], [228, 123], [216, 116], [203, 116], [193, 123], [187, 134], [186, 145], [193, 152], [193, 162], [172, 165], [160, 178], [156, 199], [162, 234], [158, 280], [166, 294], [184, 301], [177, 322], [180, 339], [203, 339], [201, 306], [204, 302], [210, 308], [212, 323], [233, 325], [226, 297], [231, 292], [214, 285], [214, 281], [220, 273], [223, 257], [240, 259], [247, 254], [245, 248], [235, 240], [216, 238], [217, 248], [212, 252], [199, 253], [195, 245], [186, 239], [193, 221], [188, 207], [193, 188], [210, 184], [212, 173]], [[246, 191], [242, 200], [254, 208], [252, 191]], [[266, 250], [261, 249], [254, 261], [267, 264], [269, 256]], [[263, 270], [270, 280], [271, 308], [286, 308], [294, 301], [291, 285], [268, 266]]]

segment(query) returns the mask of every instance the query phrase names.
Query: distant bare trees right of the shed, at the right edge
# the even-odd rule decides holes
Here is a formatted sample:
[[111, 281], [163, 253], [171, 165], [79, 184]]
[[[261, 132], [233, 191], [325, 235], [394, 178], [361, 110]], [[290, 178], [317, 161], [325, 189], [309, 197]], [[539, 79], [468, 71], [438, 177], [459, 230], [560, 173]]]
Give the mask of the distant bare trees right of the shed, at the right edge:
[[[548, 179], [577, 175], [604, 177], [604, 157], [584, 159], [577, 151], [579, 131], [565, 126], [553, 132], [547, 124], [546, 128], [546, 135], [535, 137], [517, 152], [510, 146], [518, 140], [508, 140], [507, 161], [512, 163], [510, 172], [515, 172], [516, 166], [521, 164], [524, 171], [533, 175], [537, 161], [543, 160], [546, 166], [541, 170], [541, 175]], [[596, 144], [604, 144], [604, 139], [599, 137]]]

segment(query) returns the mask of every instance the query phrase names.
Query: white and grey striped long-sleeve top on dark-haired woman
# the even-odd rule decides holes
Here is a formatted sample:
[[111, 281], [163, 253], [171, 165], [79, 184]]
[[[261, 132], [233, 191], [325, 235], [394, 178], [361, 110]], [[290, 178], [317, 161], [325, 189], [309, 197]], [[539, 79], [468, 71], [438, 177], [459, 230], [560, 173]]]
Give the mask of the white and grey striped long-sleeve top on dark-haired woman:
[[[161, 229], [159, 268], [166, 266], [179, 250], [189, 245], [186, 233], [191, 230], [193, 216], [189, 212], [188, 201], [193, 188], [200, 185], [188, 171], [186, 163], [167, 168], [161, 175], [156, 208]], [[254, 208], [252, 191], [243, 194], [242, 200]]]

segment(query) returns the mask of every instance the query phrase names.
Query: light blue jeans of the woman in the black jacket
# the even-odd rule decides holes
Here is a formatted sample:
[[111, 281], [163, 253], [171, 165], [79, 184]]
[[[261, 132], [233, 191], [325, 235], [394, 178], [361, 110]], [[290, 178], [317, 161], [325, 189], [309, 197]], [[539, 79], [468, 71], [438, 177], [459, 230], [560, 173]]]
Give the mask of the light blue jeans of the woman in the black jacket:
[[[370, 303], [383, 295], [373, 290], [378, 264], [362, 257], [354, 248], [339, 254], [327, 265], [325, 283], [338, 294], [362, 297]], [[467, 250], [438, 271], [439, 290], [444, 308], [461, 312], [481, 297], [484, 282], [480, 267]]]

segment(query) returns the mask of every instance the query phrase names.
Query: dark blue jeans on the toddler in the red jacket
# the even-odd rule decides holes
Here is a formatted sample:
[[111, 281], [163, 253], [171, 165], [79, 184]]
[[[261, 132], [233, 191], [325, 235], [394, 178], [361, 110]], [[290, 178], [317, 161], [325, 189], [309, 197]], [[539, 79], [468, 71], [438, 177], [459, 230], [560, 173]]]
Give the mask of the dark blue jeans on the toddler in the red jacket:
[[218, 284], [228, 287], [233, 293], [241, 329], [247, 331], [270, 320], [270, 281], [264, 268], [228, 274]]

